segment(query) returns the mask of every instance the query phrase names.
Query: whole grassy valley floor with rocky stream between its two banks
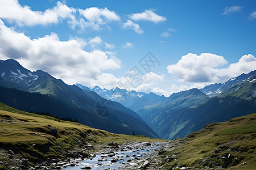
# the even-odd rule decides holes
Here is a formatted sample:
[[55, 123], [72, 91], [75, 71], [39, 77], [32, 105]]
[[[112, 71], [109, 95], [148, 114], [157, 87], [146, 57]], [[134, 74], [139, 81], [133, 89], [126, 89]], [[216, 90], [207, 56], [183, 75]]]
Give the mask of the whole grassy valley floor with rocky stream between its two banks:
[[121, 135], [0, 103], [0, 169], [252, 169], [256, 113], [166, 141]]

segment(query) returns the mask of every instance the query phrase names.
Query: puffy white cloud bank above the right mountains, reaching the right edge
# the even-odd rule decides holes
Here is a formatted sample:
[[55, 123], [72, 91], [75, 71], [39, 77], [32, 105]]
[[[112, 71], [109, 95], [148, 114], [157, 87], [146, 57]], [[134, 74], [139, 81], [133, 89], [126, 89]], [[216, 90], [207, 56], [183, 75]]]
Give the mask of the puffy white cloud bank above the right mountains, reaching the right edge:
[[181, 82], [197, 83], [193, 86], [204, 86], [207, 83], [222, 83], [242, 73], [255, 70], [256, 58], [245, 55], [237, 63], [228, 67], [226, 59], [216, 54], [203, 53], [200, 56], [189, 53], [182, 56], [174, 65], [167, 66], [168, 73], [174, 75]]

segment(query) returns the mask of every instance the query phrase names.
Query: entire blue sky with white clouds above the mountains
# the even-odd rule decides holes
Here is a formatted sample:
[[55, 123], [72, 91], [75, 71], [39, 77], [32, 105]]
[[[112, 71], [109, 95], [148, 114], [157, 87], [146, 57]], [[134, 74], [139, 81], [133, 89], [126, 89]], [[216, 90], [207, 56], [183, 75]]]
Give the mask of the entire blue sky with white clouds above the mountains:
[[0, 59], [169, 96], [256, 70], [256, 1], [0, 0]]

